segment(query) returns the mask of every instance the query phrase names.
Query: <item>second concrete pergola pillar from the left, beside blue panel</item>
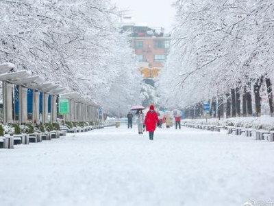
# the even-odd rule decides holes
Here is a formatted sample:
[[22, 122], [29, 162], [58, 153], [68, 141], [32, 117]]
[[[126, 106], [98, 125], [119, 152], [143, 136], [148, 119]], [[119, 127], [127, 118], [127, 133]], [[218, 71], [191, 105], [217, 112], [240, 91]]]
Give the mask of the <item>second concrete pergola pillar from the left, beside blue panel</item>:
[[19, 113], [18, 113], [18, 119], [19, 124], [27, 123], [27, 88], [22, 87], [22, 85], [19, 85]]

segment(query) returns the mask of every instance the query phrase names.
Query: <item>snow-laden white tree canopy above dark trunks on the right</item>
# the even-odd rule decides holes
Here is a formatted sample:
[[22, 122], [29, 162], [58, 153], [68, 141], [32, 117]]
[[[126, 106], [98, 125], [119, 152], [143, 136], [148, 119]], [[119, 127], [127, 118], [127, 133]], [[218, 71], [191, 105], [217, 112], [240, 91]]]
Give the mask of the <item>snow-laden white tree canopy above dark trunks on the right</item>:
[[226, 98], [233, 89], [245, 94], [253, 85], [258, 94], [261, 80], [272, 87], [273, 1], [179, 0], [174, 6], [171, 53], [158, 81], [162, 102], [190, 106]]

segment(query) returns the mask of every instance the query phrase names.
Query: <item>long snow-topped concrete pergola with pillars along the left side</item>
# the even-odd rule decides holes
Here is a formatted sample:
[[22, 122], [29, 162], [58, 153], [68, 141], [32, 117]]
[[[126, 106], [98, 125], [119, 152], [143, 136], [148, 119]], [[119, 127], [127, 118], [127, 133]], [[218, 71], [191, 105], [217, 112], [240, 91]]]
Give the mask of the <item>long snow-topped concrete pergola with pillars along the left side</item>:
[[[15, 120], [13, 115], [14, 85], [18, 87], [18, 123], [27, 123], [27, 91], [32, 89], [32, 123], [42, 124], [57, 122], [57, 96], [61, 95], [66, 88], [51, 82], [45, 82], [39, 76], [32, 76], [29, 71], [15, 71], [14, 65], [4, 63], [0, 65], [0, 80], [3, 82], [3, 124], [12, 123]], [[49, 95], [51, 102], [49, 103]], [[40, 113], [40, 99], [42, 96], [42, 113]], [[84, 100], [77, 93], [66, 93], [62, 97], [70, 100], [70, 113], [66, 115], [67, 121], [83, 122], [97, 119], [95, 117], [94, 104]], [[49, 118], [49, 104], [51, 115]]]

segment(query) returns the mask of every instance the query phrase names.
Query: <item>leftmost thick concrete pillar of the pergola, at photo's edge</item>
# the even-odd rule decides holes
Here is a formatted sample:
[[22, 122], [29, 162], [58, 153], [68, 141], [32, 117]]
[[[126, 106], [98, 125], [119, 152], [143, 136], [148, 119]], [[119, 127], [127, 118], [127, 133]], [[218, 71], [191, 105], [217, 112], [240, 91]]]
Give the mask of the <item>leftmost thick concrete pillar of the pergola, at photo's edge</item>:
[[3, 81], [3, 124], [12, 123], [12, 84]]

